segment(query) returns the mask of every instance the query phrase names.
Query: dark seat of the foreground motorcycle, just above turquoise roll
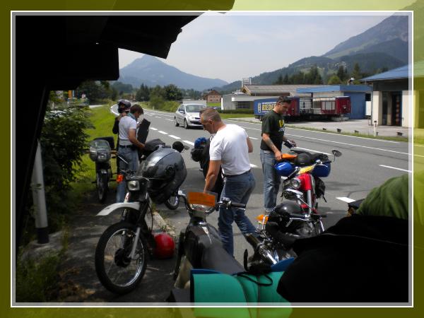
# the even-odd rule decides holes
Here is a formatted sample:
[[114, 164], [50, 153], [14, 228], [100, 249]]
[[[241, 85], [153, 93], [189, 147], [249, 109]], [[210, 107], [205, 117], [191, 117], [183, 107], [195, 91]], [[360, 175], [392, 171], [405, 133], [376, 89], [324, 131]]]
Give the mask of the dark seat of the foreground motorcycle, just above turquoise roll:
[[216, 245], [204, 249], [201, 258], [201, 268], [213, 269], [214, 271], [228, 274], [245, 271], [243, 266], [228, 254], [223, 247]]

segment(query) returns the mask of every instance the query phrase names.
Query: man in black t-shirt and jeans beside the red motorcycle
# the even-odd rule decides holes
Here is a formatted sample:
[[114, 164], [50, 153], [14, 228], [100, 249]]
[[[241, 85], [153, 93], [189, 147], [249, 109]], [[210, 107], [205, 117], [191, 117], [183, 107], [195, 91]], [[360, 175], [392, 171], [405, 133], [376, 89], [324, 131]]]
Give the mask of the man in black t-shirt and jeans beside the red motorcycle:
[[[274, 165], [281, 160], [281, 146], [288, 141], [284, 136], [283, 114], [288, 110], [290, 99], [280, 96], [276, 105], [262, 121], [261, 141], [261, 163], [264, 172], [264, 208], [266, 213], [273, 211], [276, 207], [278, 188], [281, 177], [277, 175]], [[290, 140], [293, 146], [295, 141]]]

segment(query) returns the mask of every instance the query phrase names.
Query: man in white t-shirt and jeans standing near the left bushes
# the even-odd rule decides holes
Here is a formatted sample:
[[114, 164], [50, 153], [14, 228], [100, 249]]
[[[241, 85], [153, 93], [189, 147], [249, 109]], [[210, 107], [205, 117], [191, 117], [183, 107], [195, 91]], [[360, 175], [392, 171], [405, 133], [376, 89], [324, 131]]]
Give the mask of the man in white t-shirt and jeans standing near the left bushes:
[[[139, 169], [139, 152], [137, 148], [144, 148], [144, 144], [137, 140], [137, 119], [143, 114], [143, 108], [134, 104], [129, 109], [129, 113], [119, 120], [119, 145], [118, 153], [128, 164], [119, 160], [119, 170]], [[117, 186], [117, 202], [124, 202], [126, 194], [126, 181], [118, 183]]]

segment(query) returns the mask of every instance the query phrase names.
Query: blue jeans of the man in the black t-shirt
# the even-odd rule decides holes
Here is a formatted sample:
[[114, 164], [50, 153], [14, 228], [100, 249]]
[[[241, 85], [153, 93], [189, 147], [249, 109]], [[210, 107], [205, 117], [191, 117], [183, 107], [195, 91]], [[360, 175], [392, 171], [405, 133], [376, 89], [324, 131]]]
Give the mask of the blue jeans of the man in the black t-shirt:
[[273, 151], [261, 149], [262, 172], [264, 173], [264, 208], [270, 213], [276, 207], [278, 189], [280, 189], [281, 177], [274, 168], [276, 158]]

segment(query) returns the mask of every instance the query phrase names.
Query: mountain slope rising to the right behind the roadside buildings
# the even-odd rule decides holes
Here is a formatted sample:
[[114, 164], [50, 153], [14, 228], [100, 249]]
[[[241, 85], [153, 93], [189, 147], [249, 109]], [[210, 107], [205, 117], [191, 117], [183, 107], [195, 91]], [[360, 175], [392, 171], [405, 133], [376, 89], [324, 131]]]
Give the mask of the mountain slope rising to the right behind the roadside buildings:
[[[423, 11], [423, 8], [420, 10]], [[341, 42], [321, 57], [305, 57], [282, 69], [253, 76], [252, 83], [272, 84], [277, 81], [278, 76], [290, 76], [299, 71], [307, 72], [314, 65], [317, 65], [325, 81], [337, 72], [339, 66], [343, 65], [351, 72], [355, 63], [366, 73], [375, 73], [384, 67], [395, 69], [408, 64], [408, 16], [390, 16], [365, 32]], [[240, 89], [241, 86], [241, 81], [235, 81], [214, 89], [230, 92]]]

